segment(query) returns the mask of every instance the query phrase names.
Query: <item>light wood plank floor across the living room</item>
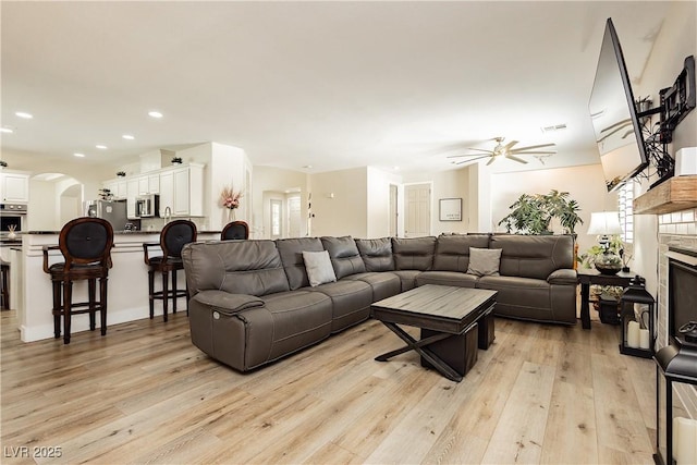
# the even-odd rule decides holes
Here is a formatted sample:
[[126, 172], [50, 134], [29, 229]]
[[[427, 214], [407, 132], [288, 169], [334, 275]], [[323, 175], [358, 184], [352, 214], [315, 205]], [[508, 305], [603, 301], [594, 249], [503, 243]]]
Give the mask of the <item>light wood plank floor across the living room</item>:
[[[70, 345], [0, 319], [3, 464], [652, 463], [653, 363], [598, 321], [497, 319], [454, 383], [413, 352], [375, 362], [401, 341], [372, 320], [242, 375], [192, 345], [181, 311]], [[40, 448], [61, 457], [13, 457], [56, 452]]]

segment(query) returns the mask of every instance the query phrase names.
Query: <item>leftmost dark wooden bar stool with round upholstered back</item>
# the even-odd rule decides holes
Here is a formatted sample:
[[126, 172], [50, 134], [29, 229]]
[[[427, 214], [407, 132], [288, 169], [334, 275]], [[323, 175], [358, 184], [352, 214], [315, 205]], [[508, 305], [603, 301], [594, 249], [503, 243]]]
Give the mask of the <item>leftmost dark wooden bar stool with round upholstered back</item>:
[[[51, 276], [53, 286], [53, 334], [70, 344], [73, 315], [89, 314], [89, 329], [95, 330], [99, 310], [101, 335], [107, 334], [107, 280], [111, 268], [113, 229], [100, 218], [77, 218], [61, 229], [58, 246], [44, 247], [44, 272]], [[49, 250], [60, 249], [65, 261], [49, 266]], [[73, 303], [73, 282], [87, 281], [87, 302]], [[96, 298], [99, 280], [99, 301]], [[81, 307], [87, 307], [82, 308]]]

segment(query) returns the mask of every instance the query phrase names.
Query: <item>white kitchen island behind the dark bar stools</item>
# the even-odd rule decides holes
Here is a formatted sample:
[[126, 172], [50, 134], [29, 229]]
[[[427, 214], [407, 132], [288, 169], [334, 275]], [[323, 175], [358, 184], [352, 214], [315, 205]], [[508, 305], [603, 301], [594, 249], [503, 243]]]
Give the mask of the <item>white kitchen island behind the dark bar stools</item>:
[[[21, 234], [22, 245], [11, 250], [12, 307], [16, 308], [23, 342], [53, 338], [53, 294], [50, 276], [44, 272], [44, 246], [58, 245], [60, 231], [29, 231]], [[220, 231], [198, 231], [198, 241], [218, 241]], [[115, 231], [109, 270], [107, 328], [149, 317], [148, 267], [143, 244], [159, 243], [159, 231]], [[51, 250], [50, 264], [63, 261], [60, 250]], [[161, 280], [156, 277], [159, 289]], [[15, 285], [16, 284], [16, 285]], [[178, 287], [185, 286], [184, 272], [178, 273]], [[73, 284], [73, 302], [87, 299], [87, 282]], [[170, 303], [170, 311], [172, 305]], [[178, 309], [186, 311], [183, 298]], [[155, 318], [162, 319], [162, 304], [156, 302]], [[164, 322], [162, 322], [164, 325]], [[89, 330], [88, 315], [73, 315], [73, 335]], [[107, 331], [107, 336], [109, 332]]]

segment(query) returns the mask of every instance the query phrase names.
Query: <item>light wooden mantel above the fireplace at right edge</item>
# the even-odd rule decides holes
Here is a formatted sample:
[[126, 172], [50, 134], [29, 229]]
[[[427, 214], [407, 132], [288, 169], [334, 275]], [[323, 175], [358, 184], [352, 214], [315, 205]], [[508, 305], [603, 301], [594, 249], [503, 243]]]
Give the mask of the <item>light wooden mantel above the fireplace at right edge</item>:
[[634, 213], [662, 215], [697, 208], [697, 175], [673, 176], [634, 199]]

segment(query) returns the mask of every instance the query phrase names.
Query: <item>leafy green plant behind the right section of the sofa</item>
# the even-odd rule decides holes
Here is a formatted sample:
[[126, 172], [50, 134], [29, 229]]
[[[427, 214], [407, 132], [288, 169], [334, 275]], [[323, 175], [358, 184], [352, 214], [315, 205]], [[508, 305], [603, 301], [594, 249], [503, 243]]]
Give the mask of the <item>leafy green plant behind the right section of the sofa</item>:
[[555, 218], [565, 234], [575, 234], [576, 224], [584, 223], [578, 203], [570, 199], [567, 192], [523, 194], [509, 208], [511, 212], [499, 221], [509, 233], [515, 229], [518, 234], [552, 234], [550, 224]]

